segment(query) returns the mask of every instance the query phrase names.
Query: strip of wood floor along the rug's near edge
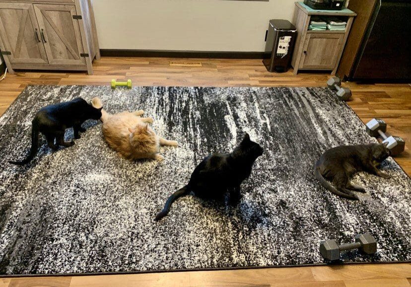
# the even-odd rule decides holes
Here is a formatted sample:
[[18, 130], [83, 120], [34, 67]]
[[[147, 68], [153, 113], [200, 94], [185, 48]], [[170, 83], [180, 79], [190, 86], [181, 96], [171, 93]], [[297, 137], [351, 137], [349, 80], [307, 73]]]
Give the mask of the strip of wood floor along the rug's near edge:
[[3, 278], [0, 287], [410, 287], [411, 264]]

